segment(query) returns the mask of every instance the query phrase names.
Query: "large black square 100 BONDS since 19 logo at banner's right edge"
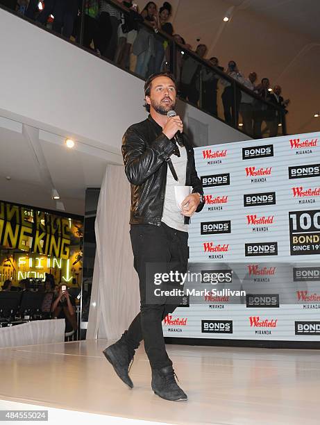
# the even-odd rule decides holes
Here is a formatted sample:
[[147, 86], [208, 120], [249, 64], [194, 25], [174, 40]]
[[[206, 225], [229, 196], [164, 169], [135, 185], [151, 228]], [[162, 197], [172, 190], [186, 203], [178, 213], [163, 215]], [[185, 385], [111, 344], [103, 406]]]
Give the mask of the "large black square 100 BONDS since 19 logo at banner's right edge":
[[320, 210], [289, 212], [290, 254], [320, 254]]

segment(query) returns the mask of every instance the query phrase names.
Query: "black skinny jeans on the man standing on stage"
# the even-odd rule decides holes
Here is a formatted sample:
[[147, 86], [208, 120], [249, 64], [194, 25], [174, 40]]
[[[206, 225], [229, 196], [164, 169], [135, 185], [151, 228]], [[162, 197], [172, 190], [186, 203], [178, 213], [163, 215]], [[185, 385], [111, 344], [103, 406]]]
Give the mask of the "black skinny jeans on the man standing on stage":
[[[162, 332], [162, 319], [172, 313], [178, 304], [173, 299], [161, 297], [158, 303], [149, 303], [148, 291], [155, 288], [153, 279], [146, 273], [148, 264], [157, 263], [158, 272], [177, 270], [187, 271], [188, 247], [187, 232], [178, 231], [161, 223], [135, 224], [130, 229], [133, 247], [134, 266], [139, 276], [140, 313], [133, 319], [128, 331], [121, 339], [128, 345], [132, 354], [140, 341], [144, 340], [144, 348], [149, 358], [151, 368], [159, 369], [172, 365], [165, 349], [165, 339]], [[180, 286], [180, 288], [183, 288]]]

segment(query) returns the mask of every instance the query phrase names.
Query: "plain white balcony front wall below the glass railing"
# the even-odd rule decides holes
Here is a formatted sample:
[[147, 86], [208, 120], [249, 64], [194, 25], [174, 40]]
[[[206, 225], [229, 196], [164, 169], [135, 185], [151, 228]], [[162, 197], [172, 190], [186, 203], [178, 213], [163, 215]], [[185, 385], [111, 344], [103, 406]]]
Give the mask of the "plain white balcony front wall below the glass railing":
[[[121, 163], [121, 137], [146, 117], [143, 81], [0, 9], [0, 116], [107, 149]], [[6, 42], [3, 42], [6, 40]], [[242, 133], [192, 106], [208, 125], [209, 144]], [[195, 140], [196, 142], [196, 140]]]

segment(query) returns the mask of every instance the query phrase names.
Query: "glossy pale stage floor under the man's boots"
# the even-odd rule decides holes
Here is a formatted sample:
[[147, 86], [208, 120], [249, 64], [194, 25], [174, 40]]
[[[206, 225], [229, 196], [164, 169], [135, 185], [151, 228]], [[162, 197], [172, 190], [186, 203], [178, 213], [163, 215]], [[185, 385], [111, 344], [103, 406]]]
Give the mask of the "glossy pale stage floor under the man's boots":
[[[6, 408], [3, 401], [13, 401], [96, 413], [106, 415], [105, 424], [120, 423], [112, 417], [183, 425], [320, 424], [317, 350], [168, 344], [189, 397], [177, 403], [151, 391], [143, 346], [130, 371], [135, 385], [130, 390], [101, 353], [108, 344], [88, 340], [0, 349], [0, 408]], [[97, 418], [91, 415], [90, 422], [100, 424]]]

